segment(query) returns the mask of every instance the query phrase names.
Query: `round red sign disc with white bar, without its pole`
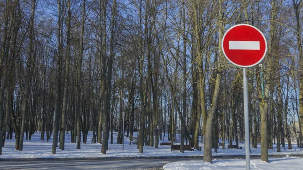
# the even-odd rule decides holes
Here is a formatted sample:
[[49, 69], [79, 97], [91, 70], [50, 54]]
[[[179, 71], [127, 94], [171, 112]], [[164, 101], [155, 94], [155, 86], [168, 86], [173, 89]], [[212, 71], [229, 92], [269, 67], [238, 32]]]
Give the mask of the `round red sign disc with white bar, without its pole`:
[[222, 39], [225, 57], [239, 67], [251, 67], [260, 63], [267, 51], [263, 33], [256, 27], [239, 24], [229, 28]]

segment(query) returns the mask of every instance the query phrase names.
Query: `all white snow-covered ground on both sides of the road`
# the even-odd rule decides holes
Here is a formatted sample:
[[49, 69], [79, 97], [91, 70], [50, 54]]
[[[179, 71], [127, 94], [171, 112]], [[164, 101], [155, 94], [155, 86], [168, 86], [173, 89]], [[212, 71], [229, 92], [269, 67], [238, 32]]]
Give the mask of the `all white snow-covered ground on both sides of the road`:
[[[136, 136], [137, 133], [134, 133]], [[53, 137], [53, 136], [52, 136]], [[86, 144], [81, 143], [81, 149], [76, 149], [76, 144], [71, 143], [70, 135], [66, 135], [65, 139], [65, 150], [57, 149], [56, 154], [52, 154], [52, 140], [41, 141], [40, 140], [40, 132], [36, 132], [31, 141], [24, 141], [23, 151], [15, 150], [15, 140], [6, 140], [5, 147], [3, 147], [3, 153], [0, 155], [1, 159], [10, 159], [10, 158], [95, 158], [95, 157], [170, 157], [170, 156], [202, 156], [202, 151], [184, 151], [184, 153], [180, 153], [179, 151], [171, 151], [170, 146], [160, 146], [158, 149], [154, 147], [144, 146], [143, 153], [139, 153], [137, 149], [137, 145], [129, 145], [129, 138], [124, 138], [124, 151], [122, 151], [121, 144], [117, 143], [117, 134], [114, 134], [114, 144], [109, 144], [109, 150], [107, 154], [100, 153], [101, 144], [98, 143], [90, 143], [92, 138], [92, 132], [89, 132], [88, 139]], [[165, 137], [167, 142], [167, 136]], [[82, 141], [82, 140], [81, 140]], [[109, 140], [110, 142], [110, 140]], [[161, 141], [160, 141], [161, 142]], [[226, 147], [227, 147], [226, 142]], [[203, 146], [200, 143], [200, 146]], [[222, 147], [219, 146], [218, 153], [214, 153], [213, 155], [245, 155], [245, 147], [244, 143], [239, 143], [240, 147], [243, 149], [225, 149], [222, 150]], [[274, 145], [276, 148], [276, 145]], [[250, 155], [260, 155], [261, 154], [261, 146], [258, 145], [258, 148], [251, 148]], [[303, 149], [297, 148], [296, 145], [293, 145], [292, 150], [286, 148], [281, 149], [281, 152], [277, 152], [276, 149], [269, 150], [270, 155], [274, 154], [283, 154], [285, 156], [292, 154], [303, 154]], [[288, 158], [287, 158], [288, 157]], [[302, 158], [294, 158], [287, 156], [285, 158], [280, 159], [270, 159], [270, 163], [262, 162], [260, 160], [251, 160], [251, 167], [256, 167], [257, 169], [268, 169], [267, 165], [269, 165], [273, 169], [281, 169], [282, 167], [291, 167], [296, 166], [301, 169], [303, 159]], [[290, 162], [290, 163], [289, 163]], [[298, 163], [301, 162], [301, 163]], [[282, 164], [282, 165], [281, 165]], [[189, 166], [190, 165], [190, 166]], [[284, 166], [283, 166], [284, 165]], [[191, 167], [192, 166], [192, 167]], [[277, 166], [277, 167], [276, 167]], [[180, 162], [175, 164], [168, 164], [165, 166], [166, 169], [176, 169], [176, 167], [182, 167], [180, 169], [199, 169], [201, 167], [207, 167], [209, 169], [218, 169], [222, 167], [224, 169], [229, 168], [245, 168], [245, 160], [243, 159], [234, 159], [234, 160], [214, 160], [213, 164], [209, 164], [206, 162]]]

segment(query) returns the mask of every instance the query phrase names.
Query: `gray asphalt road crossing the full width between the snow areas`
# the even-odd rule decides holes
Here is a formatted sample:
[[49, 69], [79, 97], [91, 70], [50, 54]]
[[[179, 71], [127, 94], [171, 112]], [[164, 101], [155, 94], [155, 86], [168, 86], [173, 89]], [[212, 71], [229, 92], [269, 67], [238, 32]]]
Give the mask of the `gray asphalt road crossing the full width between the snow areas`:
[[[303, 155], [290, 155], [303, 157]], [[285, 157], [285, 155], [269, 155], [270, 158]], [[245, 159], [245, 155], [213, 156], [213, 159]], [[260, 159], [261, 155], [250, 155], [250, 159]], [[0, 159], [0, 169], [162, 169], [162, 167], [171, 162], [203, 160], [202, 157], [191, 158], [61, 158], [52, 159]]]

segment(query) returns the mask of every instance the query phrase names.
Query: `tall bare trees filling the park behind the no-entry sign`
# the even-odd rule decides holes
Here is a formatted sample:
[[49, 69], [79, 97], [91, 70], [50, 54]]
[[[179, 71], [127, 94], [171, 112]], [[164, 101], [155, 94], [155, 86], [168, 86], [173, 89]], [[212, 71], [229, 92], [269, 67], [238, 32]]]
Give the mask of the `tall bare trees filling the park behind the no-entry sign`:
[[[80, 149], [118, 131], [122, 112], [130, 144], [158, 148], [166, 137], [180, 151], [198, 148], [212, 161], [219, 138], [244, 140], [242, 70], [224, 58], [221, 41], [231, 26], [258, 27], [268, 41], [262, 65], [248, 69], [251, 146], [261, 137], [262, 160], [290, 131], [302, 147], [302, 0], [6, 0], [0, 2], [0, 154], [15, 133], [53, 135], [52, 153], [65, 134]], [[295, 122], [299, 122], [299, 127]], [[299, 128], [299, 129], [298, 129]], [[82, 132], [82, 134], [81, 134]], [[160, 135], [160, 134], [163, 134]], [[111, 135], [111, 137], [110, 137]], [[135, 139], [134, 139], [135, 140]], [[284, 146], [285, 147], [285, 146]]]

